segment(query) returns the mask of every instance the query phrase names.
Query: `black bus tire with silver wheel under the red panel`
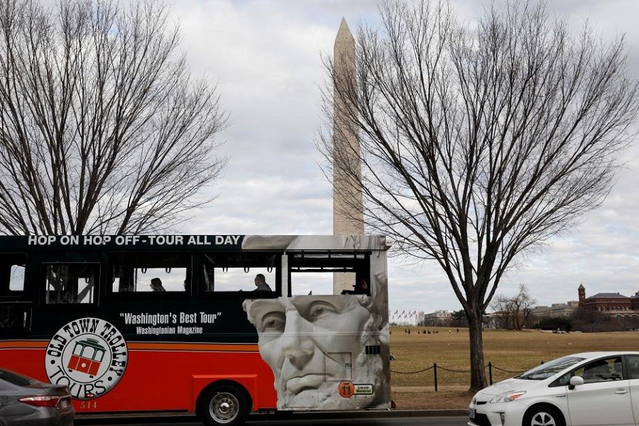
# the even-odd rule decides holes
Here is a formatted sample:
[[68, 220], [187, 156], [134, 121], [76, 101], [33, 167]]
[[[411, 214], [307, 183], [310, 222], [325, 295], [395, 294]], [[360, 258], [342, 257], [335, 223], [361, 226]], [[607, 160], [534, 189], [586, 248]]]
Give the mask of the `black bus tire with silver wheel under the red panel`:
[[197, 405], [197, 415], [207, 426], [243, 425], [249, 410], [243, 390], [226, 383], [205, 389]]

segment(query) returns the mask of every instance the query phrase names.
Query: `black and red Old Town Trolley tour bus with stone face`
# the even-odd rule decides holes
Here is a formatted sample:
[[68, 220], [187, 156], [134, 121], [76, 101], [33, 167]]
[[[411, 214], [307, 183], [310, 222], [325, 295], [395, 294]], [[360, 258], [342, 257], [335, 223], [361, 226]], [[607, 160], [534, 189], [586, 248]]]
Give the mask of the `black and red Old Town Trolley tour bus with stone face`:
[[0, 236], [0, 366], [80, 416], [390, 408], [383, 236]]

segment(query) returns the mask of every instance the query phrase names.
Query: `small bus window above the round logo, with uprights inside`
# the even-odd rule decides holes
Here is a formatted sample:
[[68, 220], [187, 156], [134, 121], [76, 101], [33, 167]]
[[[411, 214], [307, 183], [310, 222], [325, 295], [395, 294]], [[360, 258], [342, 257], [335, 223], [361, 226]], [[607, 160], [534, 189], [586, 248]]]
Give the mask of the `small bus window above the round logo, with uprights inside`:
[[98, 263], [45, 265], [45, 302], [93, 303], [100, 276]]

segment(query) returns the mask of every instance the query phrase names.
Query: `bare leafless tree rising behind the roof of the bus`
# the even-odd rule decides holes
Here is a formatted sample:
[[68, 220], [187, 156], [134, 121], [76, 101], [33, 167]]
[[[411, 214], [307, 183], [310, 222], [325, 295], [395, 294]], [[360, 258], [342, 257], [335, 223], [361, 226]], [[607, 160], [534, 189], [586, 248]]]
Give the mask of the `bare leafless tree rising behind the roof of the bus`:
[[155, 2], [0, 0], [0, 233], [137, 234], [211, 198], [216, 88]]

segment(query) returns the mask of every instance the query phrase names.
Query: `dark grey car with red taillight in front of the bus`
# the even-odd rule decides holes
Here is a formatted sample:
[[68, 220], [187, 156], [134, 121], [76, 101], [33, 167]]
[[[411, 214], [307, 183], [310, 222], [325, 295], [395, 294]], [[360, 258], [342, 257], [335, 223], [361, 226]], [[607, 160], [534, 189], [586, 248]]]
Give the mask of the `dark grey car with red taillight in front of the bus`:
[[0, 426], [72, 426], [74, 418], [66, 386], [0, 368]]

